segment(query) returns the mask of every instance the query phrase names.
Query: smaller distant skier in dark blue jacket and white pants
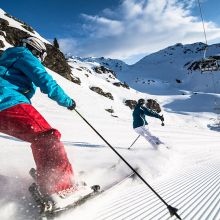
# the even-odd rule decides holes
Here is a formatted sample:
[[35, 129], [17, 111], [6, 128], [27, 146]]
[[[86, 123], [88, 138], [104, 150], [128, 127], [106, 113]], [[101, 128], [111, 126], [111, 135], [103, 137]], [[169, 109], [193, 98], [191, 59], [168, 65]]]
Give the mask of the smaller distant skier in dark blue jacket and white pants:
[[157, 148], [158, 145], [163, 144], [158, 137], [155, 137], [149, 131], [149, 128], [145, 115], [150, 117], [159, 118], [162, 122], [164, 121], [163, 116], [160, 116], [158, 113], [153, 112], [149, 108], [144, 107], [145, 100], [139, 99], [137, 105], [133, 111], [133, 128], [141, 136], [143, 136], [153, 147]]

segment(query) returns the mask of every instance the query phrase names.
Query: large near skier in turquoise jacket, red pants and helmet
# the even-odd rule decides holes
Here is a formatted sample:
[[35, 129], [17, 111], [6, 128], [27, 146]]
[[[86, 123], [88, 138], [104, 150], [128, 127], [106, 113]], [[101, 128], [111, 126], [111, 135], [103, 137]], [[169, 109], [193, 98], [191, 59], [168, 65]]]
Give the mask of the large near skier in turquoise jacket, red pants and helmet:
[[37, 184], [45, 195], [58, 198], [77, 190], [72, 166], [60, 142], [60, 132], [48, 124], [30, 99], [39, 87], [69, 110], [76, 103], [41, 64], [46, 55], [44, 43], [29, 37], [0, 57], [0, 132], [31, 143]]

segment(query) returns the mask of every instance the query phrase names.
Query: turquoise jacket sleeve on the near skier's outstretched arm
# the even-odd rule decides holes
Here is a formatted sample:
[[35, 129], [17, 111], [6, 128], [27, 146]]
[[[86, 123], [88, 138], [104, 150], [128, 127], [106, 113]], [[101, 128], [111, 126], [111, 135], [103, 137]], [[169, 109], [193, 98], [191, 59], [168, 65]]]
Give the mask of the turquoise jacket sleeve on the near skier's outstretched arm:
[[41, 92], [56, 101], [59, 105], [69, 107], [72, 99], [63, 91], [41, 62], [32, 54], [26, 53], [15, 63], [15, 68], [21, 70]]

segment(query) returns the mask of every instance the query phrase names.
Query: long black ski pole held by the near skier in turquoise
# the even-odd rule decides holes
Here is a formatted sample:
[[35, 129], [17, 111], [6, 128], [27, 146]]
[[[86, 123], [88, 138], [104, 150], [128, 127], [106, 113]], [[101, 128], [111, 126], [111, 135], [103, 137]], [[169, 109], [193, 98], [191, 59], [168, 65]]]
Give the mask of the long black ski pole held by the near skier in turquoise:
[[124, 161], [124, 163], [144, 182], [144, 184], [166, 205], [170, 216], [176, 216], [178, 219], [181, 220], [181, 217], [177, 214], [178, 209], [175, 207], [172, 207], [171, 205], [169, 205], [153, 188], [152, 186], [147, 183], [147, 181], [124, 159], [124, 157], [121, 156], [121, 154], [119, 154], [114, 147], [111, 146], [111, 144], [109, 144], [107, 142], [107, 140], [105, 140], [104, 137], [102, 137], [102, 135], [76, 110], [74, 109], [75, 112], [86, 122], [87, 125], [89, 125], [90, 128], [92, 128], [92, 130], [121, 158], [122, 161]]

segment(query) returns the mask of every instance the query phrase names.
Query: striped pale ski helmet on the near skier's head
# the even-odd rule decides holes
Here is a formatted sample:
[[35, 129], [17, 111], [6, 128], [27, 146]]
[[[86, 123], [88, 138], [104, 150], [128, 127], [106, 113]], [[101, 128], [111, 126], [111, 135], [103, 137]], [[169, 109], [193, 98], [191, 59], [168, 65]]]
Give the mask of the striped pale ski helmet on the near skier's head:
[[39, 38], [37, 37], [28, 37], [22, 39], [22, 46], [27, 47], [41, 62], [44, 61], [47, 56], [47, 48]]

